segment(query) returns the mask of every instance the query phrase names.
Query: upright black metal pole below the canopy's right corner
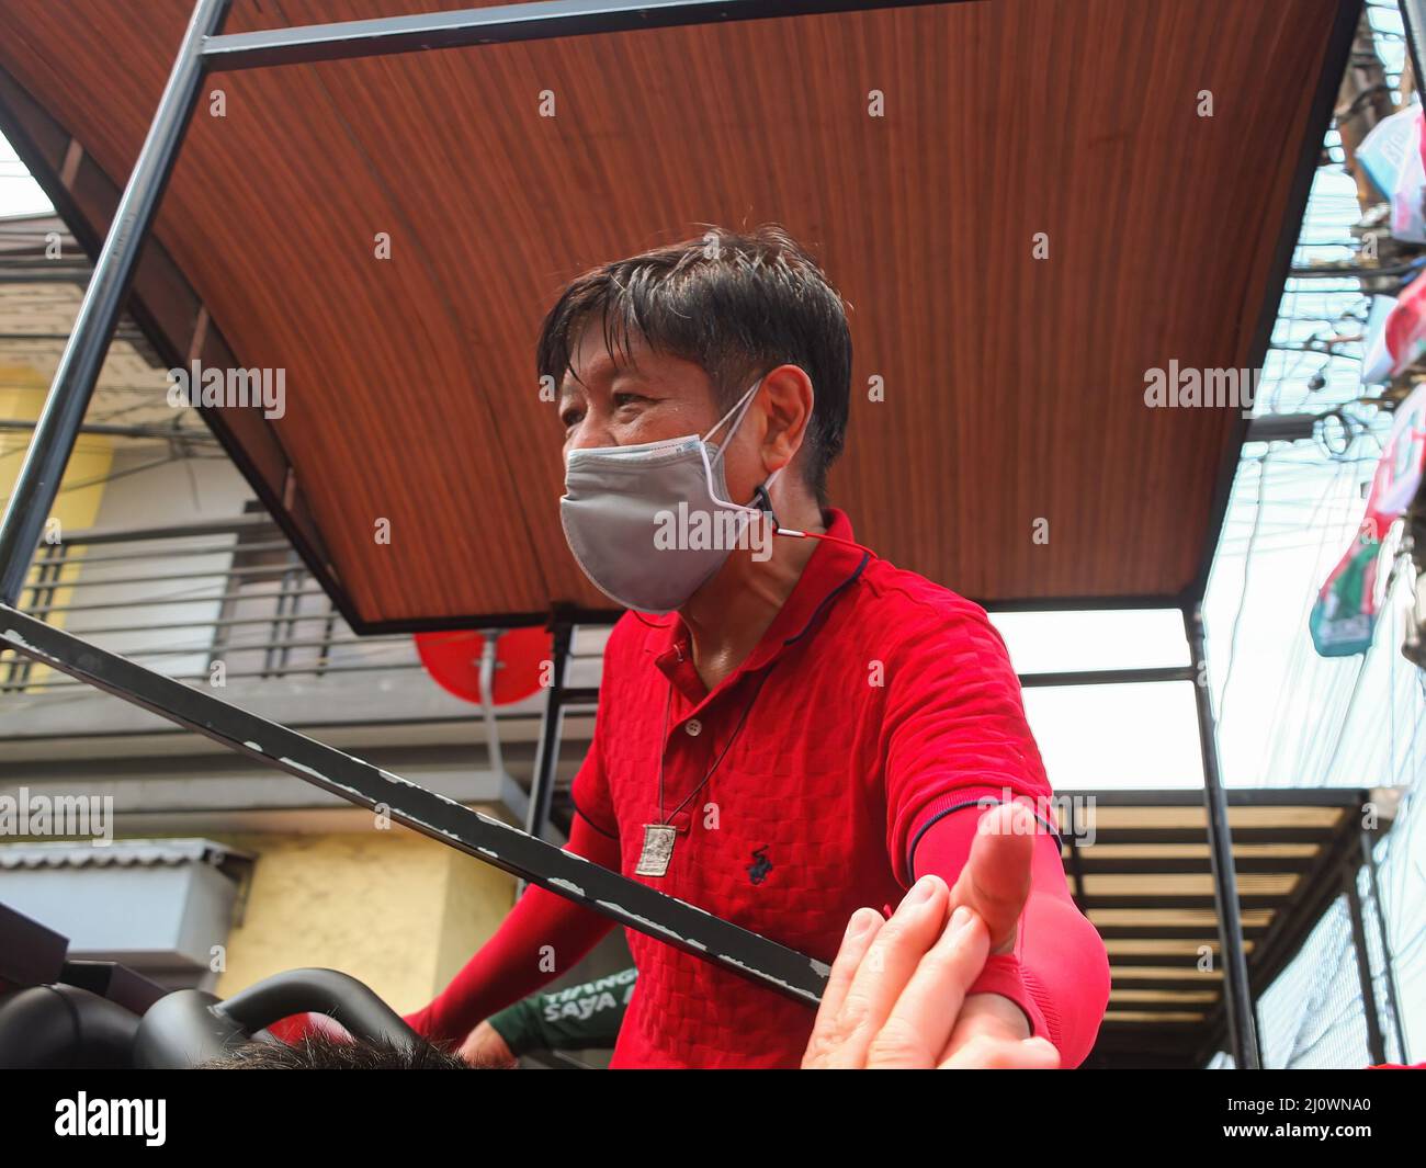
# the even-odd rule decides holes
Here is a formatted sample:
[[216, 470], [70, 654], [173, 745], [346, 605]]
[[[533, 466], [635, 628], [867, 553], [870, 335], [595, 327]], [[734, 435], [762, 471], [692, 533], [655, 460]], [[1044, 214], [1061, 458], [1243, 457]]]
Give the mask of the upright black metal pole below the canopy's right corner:
[[1228, 799], [1218, 762], [1218, 727], [1208, 692], [1208, 657], [1204, 642], [1204, 613], [1198, 605], [1184, 609], [1189, 659], [1194, 665], [1194, 700], [1198, 706], [1198, 742], [1204, 753], [1204, 804], [1208, 810], [1208, 853], [1214, 870], [1214, 903], [1218, 907], [1218, 938], [1224, 963], [1224, 1005], [1233, 1065], [1242, 1071], [1262, 1067], [1258, 1030], [1253, 1025], [1252, 988], [1243, 954], [1242, 914], [1238, 906], [1238, 874], [1233, 870], [1232, 833], [1228, 829]]

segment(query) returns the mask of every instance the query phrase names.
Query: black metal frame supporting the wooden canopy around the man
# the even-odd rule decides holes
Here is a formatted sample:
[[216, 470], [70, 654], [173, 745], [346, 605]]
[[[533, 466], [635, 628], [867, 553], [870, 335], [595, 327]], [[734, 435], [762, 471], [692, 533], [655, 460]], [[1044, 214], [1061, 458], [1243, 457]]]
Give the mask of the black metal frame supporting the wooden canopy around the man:
[[[921, 0], [925, 3], [925, 0]], [[960, 3], [960, 0], [933, 0]], [[556, 3], [509, 4], [492, 9], [431, 13], [406, 17], [349, 21], [344, 24], [277, 29], [260, 33], [222, 34], [231, 0], [197, 0], [188, 30], [180, 44], [173, 73], [164, 90], [150, 133], [140, 151], [123, 198], [114, 214], [94, 274], [84, 294], [74, 331], [34, 429], [24, 465], [0, 523], [0, 642], [90, 685], [144, 706], [178, 724], [287, 770], [299, 779], [334, 792], [354, 803], [389, 807], [394, 819], [432, 839], [495, 864], [522, 880], [546, 887], [586, 904], [630, 928], [679, 946], [707, 960], [733, 968], [754, 981], [791, 997], [816, 1003], [826, 978], [821, 963], [793, 953], [766, 937], [747, 933], [699, 908], [589, 864], [542, 836], [546, 830], [559, 753], [563, 707], [593, 700], [597, 695], [572, 692], [565, 686], [565, 659], [575, 623], [603, 622], [612, 613], [555, 615], [555, 685], [540, 733], [540, 746], [526, 831], [486, 819], [396, 776], [372, 767], [338, 750], [322, 746], [275, 723], [258, 719], [197, 689], [190, 689], [153, 670], [54, 629], [17, 610], [30, 562], [60, 478], [93, 395], [100, 367], [113, 338], [120, 309], [133, 284], [140, 255], [148, 241], [158, 204], [181, 148], [204, 78], [210, 70], [255, 68], [284, 64], [342, 60], [391, 53], [455, 48], [465, 46], [538, 40], [546, 37], [617, 33], [637, 29], [676, 27], [724, 20], [759, 20], [814, 13], [853, 11], [873, 7], [910, 7], [917, 0], [558, 0]], [[1416, 6], [1419, 0], [1405, 0]], [[1403, 6], [1403, 7], [1405, 7]], [[1310, 184], [1312, 160], [1330, 113], [1330, 98], [1346, 61], [1359, 0], [1340, 0], [1338, 23], [1328, 48], [1325, 73], [1313, 107], [1308, 141], [1302, 145], [1299, 171], [1276, 247], [1278, 264], [1255, 338], [1255, 358], [1266, 352], [1271, 322], [1286, 280], [1288, 261], [1296, 238]], [[1413, 41], [1415, 44], [1415, 41]], [[58, 205], [58, 204], [57, 204]], [[1246, 422], [1243, 424], [1246, 428]], [[224, 444], [230, 454], [232, 442]], [[1239, 444], [1241, 445], [1241, 444]], [[1238, 893], [1233, 876], [1226, 803], [1219, 780], [1218, 743], [1212, 705], [1201, 679], [1204, 633], [1199, 603], [1206, 590], [1206, 573], [1226, 513], [1228, 492], [1236, 458], [1222, 468], [1215, 493], [1215, 518], [1198, 579], [1179, 598], [1084, 598], [1057, 603], [1004, 603], [1001, 609], [1065, 609], [1174, 606], [1184, 613], [1191, 666], [1164, 670], [1107, 670], [1042, 675], [1027, 685], [1087, 685], [1132, 680], [1194, 680], [1199, 737], [1204, 753], [1204, 794], [1209, 811], [1209, 836], [1225, 961], [1225, 1004], [1229, 1037], [1238, 1067], [1259, 1065], [1253, 1027], [1252, 995], [1242, 948]], [[248, 475], [252, 479], [252, 475]], [[265, 499], [271, 503], [271, 499]], [[289, 532], [291, 533], [291, 532]], [[324, 565], [325, 566], [325, 565]], [[329, 575], [318, 572], [324, 583]], [[345, 613], [344, 613], [345, 615]], [[349, 619], [349, 615], [348, 615]], [[535, 623], [543, 615], [472, 618], [471, 626], [499, 627]], [[358, 632], [361, 622], [351, 622]], [[412, 622], [412, 630], [426, 622]], [[432, 622], [448, 627], [449, 622]], [[394, 632], [395, 629], [392, 629]]]

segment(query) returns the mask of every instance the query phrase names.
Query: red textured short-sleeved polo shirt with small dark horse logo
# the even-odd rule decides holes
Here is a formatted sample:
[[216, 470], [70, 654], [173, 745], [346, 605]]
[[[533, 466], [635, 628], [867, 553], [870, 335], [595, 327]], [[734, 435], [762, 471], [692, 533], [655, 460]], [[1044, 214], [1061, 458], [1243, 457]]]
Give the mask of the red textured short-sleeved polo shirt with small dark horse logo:
[[[829, 519], [829, 535], [853, 539], [843, 512]], [[645, 877], [635, 869], [645, 824], [660, 821], [660, 756], [665, 813], [684, 806], [667, 873]], [[619, 620], [573, 799], [619, 839], [629, 878], [830, 964], [857, 908], [901, 900], [920, 830], [1007, 787], [1050, 796], [985, 612], [819, 543], [757, 647], [712, 692], [680, 616]], [[639, 981], [612, 1065], [799, 1065], [811, 1010], [626, 934]]]

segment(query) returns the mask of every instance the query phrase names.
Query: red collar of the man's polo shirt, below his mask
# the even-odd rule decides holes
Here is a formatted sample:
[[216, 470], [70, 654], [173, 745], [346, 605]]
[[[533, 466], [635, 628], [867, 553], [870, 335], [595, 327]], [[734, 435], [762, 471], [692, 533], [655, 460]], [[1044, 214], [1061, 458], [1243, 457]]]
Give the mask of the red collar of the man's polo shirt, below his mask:
[[[827, 535], [836, 539], [854, 539], [851, 521], [844, 511], [827, 508], [823, 519], [827, 525]], [[773, 618], [773, 623], [767, 626], [753, 652], [733, 670], [724, 685], [730, 685], [743, 673], [770, 665], [786, 647], [810, 635], [821, 612], [831, 606], [836, 596], [851, 586], [861, 575], [867, 560], [871, 559], [870, 552], [857, 548], [820, 539], [816, 543], [817, 546], [803, 566], [791, 593], [777, 610], [777, 616]], [[659, 669], [672, 679], [683, 659], [689, 656], [689, 633], [683, 618], [674, 612], [643, 619], [652, 626], [645, 636], [645, 652], [652, 653]]]

